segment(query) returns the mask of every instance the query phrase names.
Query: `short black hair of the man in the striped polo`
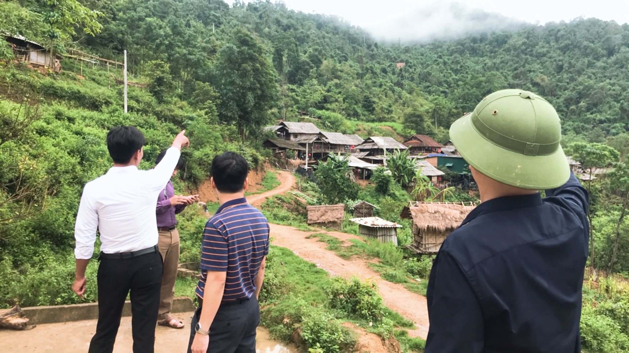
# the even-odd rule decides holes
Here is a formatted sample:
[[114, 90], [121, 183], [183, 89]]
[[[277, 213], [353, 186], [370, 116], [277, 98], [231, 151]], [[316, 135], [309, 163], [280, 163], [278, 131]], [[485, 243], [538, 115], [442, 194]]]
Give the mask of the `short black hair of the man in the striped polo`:
[[249, 172], [249, 164], [238, 153], [227, 151], [212, 160], [211, 173], [220, 192], [242, 191]]

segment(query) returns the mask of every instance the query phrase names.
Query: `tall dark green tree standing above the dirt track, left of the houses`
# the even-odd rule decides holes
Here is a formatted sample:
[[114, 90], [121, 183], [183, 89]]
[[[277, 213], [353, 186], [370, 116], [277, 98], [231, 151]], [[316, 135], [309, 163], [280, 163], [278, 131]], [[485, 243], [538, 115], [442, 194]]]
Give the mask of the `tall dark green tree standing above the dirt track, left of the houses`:
[[264, 48], [248, 31], [231, 31], [230, 43], [218, 52], [213, 83], [220, 95], [219, 117], [236, 124], [243, 139], [269, 122], [277, 97], [275, 75]]

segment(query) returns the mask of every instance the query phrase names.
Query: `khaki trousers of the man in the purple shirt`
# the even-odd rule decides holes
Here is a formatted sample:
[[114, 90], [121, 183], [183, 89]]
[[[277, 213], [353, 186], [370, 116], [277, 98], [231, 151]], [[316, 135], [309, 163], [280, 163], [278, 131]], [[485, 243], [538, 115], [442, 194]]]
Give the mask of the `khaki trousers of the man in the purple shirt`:
[[175, 297], [175, 279], [177, 267], [179, 267], [179, 231], [175, 228], [170, 232], [159, 231], [158, 233], [157, 247], [164, 261], [164, 277], [160, 290], [157, 320], [166, 320], [170, 317], [172, 300]]

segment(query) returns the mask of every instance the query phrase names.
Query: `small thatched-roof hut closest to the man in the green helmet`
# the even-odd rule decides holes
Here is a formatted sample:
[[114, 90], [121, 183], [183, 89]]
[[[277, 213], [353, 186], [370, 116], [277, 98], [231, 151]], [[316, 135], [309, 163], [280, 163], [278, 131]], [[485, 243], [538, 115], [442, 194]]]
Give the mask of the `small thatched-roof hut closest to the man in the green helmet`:
[[413, 220], [413, 242], [406, 247], [418, 254], [437, 254], [448, 234], [474, 207], [472, 203], [444, 202], [415, 202], [404, 207], [401, 217]]

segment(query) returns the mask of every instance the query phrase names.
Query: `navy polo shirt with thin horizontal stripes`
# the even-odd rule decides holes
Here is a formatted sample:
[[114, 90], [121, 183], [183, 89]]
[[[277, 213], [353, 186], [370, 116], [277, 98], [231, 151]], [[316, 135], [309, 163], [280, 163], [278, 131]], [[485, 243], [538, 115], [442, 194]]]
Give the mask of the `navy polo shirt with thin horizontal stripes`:
[[251, 298], [255, 276], [269, 254], [269, 222], [245, 198], [225, 202], [205, 225], [201, 244], [201, 278], [196, 295], [203, 298], [208, 271], [226, 271], [223, 303]]

